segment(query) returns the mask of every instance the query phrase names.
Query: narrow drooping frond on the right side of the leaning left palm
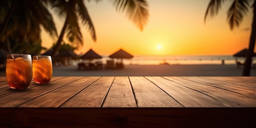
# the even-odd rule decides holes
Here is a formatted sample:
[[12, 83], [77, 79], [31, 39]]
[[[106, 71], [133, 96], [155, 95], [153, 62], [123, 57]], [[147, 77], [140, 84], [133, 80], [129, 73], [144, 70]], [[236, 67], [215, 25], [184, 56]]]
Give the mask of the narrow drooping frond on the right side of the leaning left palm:
[[95, 29], [92, 24], [92, 20], [89, 16], [89, 13], [85, 7], [85, 4], [83, 3], [83, 0], [79, 0], [79, 2], [77, 3], [77, 12], [79, 13], [80, 18], [82, 19], [82, 24], [88, 25], [92, 39], [96, 41]]

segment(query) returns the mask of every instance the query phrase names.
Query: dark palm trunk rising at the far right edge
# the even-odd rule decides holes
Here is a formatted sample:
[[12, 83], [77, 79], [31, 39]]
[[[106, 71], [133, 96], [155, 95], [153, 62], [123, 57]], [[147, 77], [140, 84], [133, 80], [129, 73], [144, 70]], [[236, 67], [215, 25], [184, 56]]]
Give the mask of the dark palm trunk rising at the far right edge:
[[254, 46], [256, 40], [256, 7], [255, 2], [253, 4], [253, 20], [252, 20], [252, 32], [250, 37], [249, 49], [246, 54], [245, 66], [243, 68], [243, 76], [250, 76], [250, 70], [252, 65], [252, 55], [254, 53]]

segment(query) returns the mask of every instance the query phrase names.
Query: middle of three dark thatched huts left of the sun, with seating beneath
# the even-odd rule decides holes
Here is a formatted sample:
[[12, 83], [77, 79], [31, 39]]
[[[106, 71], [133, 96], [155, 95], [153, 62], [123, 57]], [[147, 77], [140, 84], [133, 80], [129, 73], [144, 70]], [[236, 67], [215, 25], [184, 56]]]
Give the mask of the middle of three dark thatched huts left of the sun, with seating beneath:
[[[94, 52], [92, 49], [90, 49], [88, 52], [86, 52], [85, 54], [83, 54], [83, 56], [80, 57], [83, 60], [88, 60], [88, 69], [92, 70], [92, 69], [102, 69], [103, 68], [103, 64], [101, 61], [97, 61], [96, 63], [92, 63], [93, 59], [99, 59], [102, 58], [99, 54], [97, 54], [96, 52]], [[78, 64], [78, 69], [81, 69], [81, 67], [84, 67], [86, 69], [86, 66], [84, 63], [79, 63]]]

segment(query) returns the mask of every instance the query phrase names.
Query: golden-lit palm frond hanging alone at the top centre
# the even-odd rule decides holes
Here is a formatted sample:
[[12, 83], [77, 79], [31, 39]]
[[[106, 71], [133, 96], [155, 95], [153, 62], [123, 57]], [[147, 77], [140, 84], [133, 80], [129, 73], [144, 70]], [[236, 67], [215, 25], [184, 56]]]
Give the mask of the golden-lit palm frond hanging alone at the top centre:
[[117, 11], [126, 11], [130, 20], [142, 31], [148, 21], [148, 2], [146, 0], [112, 0]]

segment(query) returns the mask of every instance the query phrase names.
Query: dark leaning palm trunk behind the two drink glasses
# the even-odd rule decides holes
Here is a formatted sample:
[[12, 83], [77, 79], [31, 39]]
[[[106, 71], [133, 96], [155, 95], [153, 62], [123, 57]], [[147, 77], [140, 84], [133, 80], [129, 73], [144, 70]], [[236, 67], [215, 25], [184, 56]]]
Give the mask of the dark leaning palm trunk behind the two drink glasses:
[[64, 36], [64, 34], [65, 34], [65, 30], [66, 30], [66, 28], [67, 28], [67, 20], [68, 20], [68, 16], [66, 17], [65, 24], [64, 24], [64, 26], [63, 26], [63, 28], [62, 28], [62, 30], [61, 30], [61, 34], [60, 34], [60, 36], [59, 36], [59, 38], [58, 38], [58, 41], [57, 41], [56, 45], [54, 46], [54, 48], [53, 48], [53, 50], [52, 50], [52, 53], [51, 53], [52, 60], [54, 60], [55, 55], [56, 55], [58, 49], [59, 49], [60, 46], [61, 46], [61, 42], [62, 42], [63, 36]]

